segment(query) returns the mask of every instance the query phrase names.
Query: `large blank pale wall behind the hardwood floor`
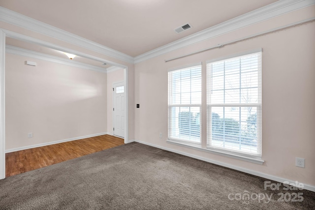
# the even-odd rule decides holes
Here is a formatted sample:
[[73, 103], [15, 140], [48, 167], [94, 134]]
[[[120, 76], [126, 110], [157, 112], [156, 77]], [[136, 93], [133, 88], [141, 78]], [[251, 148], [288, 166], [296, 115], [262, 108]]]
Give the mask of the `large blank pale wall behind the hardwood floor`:
[[5, 56], [6, 150], [107, 132], [106, 73]]

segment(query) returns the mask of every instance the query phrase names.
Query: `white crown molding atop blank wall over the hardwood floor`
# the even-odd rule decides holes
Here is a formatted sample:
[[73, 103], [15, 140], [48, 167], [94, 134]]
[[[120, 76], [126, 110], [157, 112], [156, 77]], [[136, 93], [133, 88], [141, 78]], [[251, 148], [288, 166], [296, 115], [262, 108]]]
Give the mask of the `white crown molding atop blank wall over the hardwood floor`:
[[78, 68], [84, 68], [88, 70], [106, 73], [106, 68], [101, 68], [98, 66], [78, 62], [75, 60], [63, 59], [57, 56], [51, 56], [51, 55], [47, 55], [43, 53], [38, 53], [32, 50], [26, 50], [23, 48], [12, 46], [12, 45], [5, 45], [5, 52], [14, 54], [14, 55], [25, 56], [25, 57], [30, 57], [34, 59], [40, 59], [40, 60], [47, 60], [47, 61], [56, 62], [56, 63], [60, 63], [64, 65], [70, 65], [70, 66], [74, 66]]

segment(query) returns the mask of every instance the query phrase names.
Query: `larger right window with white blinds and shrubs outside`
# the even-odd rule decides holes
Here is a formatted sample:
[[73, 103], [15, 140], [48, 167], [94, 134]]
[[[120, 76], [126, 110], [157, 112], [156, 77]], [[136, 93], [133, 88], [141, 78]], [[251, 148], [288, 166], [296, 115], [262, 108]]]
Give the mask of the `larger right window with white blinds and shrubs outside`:
[[261, 156], [261, 50], [207, 63], [207, 148]]

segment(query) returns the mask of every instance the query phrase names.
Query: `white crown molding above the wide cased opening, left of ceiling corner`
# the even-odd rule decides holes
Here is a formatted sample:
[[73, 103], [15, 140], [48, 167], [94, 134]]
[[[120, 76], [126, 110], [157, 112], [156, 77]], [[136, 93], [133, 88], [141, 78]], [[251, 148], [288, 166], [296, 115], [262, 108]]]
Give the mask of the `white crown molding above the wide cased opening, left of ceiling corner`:
[[111, 49], [109, 47], [100, 45], [91, 40], [85, 39], [81, 36], [75, 35], [73, 33], [67, 32], [65, 30], [58, 29], [51, 25], [45, 24], [38, 20], [32, 19], [25, 15], [19, 14], [12, 10], [6, 9], [0, 6], [0, 19], [2, 22], [12, 24], [27, 30], [32, 30], [37, 33], [41, 33], [46, 36], [57, 38], [64, 42], [80, 46], [97, 53], [101, 53], [106, 56], [110, 56], [115, 59], [123, 60], [129, 63], [134, 63], [134, 59], [124, 53]]

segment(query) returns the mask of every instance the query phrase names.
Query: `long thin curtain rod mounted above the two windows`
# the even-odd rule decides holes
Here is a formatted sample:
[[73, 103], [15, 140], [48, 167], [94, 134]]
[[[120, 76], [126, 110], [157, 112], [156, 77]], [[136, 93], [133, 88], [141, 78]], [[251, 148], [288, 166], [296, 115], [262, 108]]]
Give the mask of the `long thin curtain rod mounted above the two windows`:
[[302, 24], [310, 23], [310, 22], [313, 22], [313, 21], [315, 21], [315, 18], [306, 19], [304, 21], [300, 21], [300, 22], [296, 22], [296, 23], [293, 23], [293, 24], [285, 25], [285, 26], [282, 26], [282, 27], [279, 27], [279, 28], [275, 28], [275, 29], [272, 29], [272, 30], [267, 30], [267, 31], [264, 31], [264, 32], [261, 32], [261, 33], [256, 33], [256, 34], [251, 35], [251, 36], [246, 36], [246, 37], [243, 37], [243, 38], [240, 38], [240, 39], [236, 39], [236, 40], [233, 40], [233, 41], [225, 42], [223, 44], [218, 44], [217, 46], [205, 48], [205, 49], [202, 49], [202, 50], [198, 50], [198, 51], [195, 51], [195, 52], [192, 52], [192, 53], [189, 53], [189, 54], [185, 54], [183, 56], [178, 56], [178, 57], [175, 57], [175, 58], [172, 58], [172, 59], [168, 59], [168, 60], [164, 60], [164, 61], [165, 62], [169, 62], [169, 61], [172, 61], [172, 60], [182, 59], [182, 58], [185, 58], [185, 57], [188, 57], [188, 56], [192, 56], [192, 55], [195, 55], [195, 54], [198, 54], [198, 53], [203, 53], [203, 52], [208, 51], [208, 50], [221, 48], [221, 47], [224, 47], [226, 45], [235, 44], [237, 42], [245, 41], [245, 40], [252, 39], [252, 38], [255, 38], [255, 37], [258, 37], [258, 36], [262, 36], [262, 35], [265, 35], [265, 34], [268, 34], [268, 33], [273, 33], [273, 32], [279, 31], [279, 30], [285, 30], [285, 29], [288, 29], [288, 28], [300, 26]]

